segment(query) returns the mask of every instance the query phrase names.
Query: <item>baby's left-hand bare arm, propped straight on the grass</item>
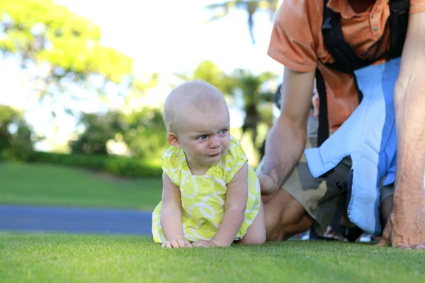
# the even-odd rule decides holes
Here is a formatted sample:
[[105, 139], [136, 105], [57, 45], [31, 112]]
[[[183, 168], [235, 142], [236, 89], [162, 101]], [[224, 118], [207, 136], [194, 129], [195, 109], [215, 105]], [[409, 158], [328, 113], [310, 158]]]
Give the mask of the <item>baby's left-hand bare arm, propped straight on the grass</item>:
[[163, 248], [186, 248], [191, 243], [186, 241], [181, 224], [181, 195], [179, 187], [171, 183], [166, 173], [162, 173], [162, 208], [161, 228], [166, 238]]

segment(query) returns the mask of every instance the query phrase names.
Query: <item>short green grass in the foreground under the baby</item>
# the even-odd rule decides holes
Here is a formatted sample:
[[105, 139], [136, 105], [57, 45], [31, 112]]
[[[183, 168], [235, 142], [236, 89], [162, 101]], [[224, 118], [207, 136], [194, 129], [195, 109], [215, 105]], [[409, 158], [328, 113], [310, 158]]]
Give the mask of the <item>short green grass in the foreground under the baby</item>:
[[425, 254], [301, 242], [164, 250], [128, 236], [0, 236], [0, 282], [425, 282]]

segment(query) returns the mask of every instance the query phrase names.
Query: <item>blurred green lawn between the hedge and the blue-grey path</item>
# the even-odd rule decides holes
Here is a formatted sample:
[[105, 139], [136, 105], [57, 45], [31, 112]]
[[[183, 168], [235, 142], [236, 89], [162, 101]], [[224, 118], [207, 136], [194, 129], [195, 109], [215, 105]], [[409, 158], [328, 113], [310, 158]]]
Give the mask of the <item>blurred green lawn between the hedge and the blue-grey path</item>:
[[153, 209], [161, 178], [124, 179], [44, 164], [0, 163], [0, 204]]

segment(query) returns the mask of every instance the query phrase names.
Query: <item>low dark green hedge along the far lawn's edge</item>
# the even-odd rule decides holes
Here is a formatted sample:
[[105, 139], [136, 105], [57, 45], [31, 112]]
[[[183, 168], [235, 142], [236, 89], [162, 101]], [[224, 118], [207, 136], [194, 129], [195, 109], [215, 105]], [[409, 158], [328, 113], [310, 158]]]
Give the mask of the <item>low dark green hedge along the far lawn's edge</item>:
[[28, 158], [31, 163], [57, 164], [86, 168], [123, 177], [159, 177], [162, 168], [140, 158], [124, 156], [96, 156], [91, 154], [55, 154], [33, 151]]

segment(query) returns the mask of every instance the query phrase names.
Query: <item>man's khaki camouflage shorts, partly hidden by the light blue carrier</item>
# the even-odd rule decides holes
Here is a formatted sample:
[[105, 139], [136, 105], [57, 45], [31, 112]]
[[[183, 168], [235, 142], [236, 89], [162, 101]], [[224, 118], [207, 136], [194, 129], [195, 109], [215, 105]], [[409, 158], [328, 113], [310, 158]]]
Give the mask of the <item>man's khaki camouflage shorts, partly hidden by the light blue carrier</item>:
[[[307, 138], [306, 148], [315, 146], [316, 138]], [[336, 209], [344, 207], [346, 212], [346, 194], [336, 185], [346, 182], [346, 175], [351, 169], [351, 158], [344, 158], [326, 178], [314, 178], [307, 166], [305, 156], [297, 163], [294, 171], [283, 184], [283, 190], [300, 202], [305, 211], [316, 221], [314, 229], [318, 235], [326, 231], [331, 224]], [[381, 186], [380, 201], [394, 194], [393, 185]]]

